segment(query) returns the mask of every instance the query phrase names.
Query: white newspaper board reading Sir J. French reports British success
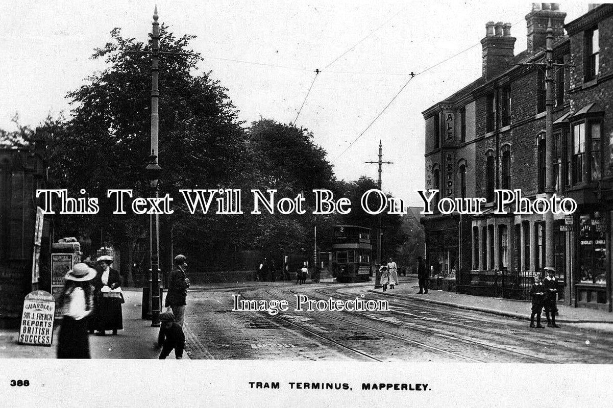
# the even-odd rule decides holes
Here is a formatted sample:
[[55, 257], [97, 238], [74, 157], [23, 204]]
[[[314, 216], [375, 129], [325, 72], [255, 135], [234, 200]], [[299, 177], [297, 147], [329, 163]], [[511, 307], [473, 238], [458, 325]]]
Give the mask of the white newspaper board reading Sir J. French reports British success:
[[51, 293], [35, 290], [23, 301], [18, 342], [33, 346], [51, 346], [53, 343], [53, 320], [55, 299]]

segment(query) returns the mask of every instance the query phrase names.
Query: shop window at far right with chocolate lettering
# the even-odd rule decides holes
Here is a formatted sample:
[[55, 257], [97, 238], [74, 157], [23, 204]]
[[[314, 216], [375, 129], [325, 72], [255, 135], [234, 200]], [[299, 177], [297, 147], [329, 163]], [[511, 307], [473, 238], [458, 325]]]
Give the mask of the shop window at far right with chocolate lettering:
[[580, 214], [579, 216], [579, 282], [606, 285], [608, 220], [604, 213]]

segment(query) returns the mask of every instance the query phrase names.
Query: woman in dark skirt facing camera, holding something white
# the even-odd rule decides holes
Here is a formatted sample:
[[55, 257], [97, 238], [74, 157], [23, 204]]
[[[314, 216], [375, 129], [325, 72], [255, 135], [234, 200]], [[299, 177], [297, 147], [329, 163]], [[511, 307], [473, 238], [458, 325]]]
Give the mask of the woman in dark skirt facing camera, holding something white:
[[98, 336], [104, 336], [107, 330], [117, 334], [117, 330], [123, 330], [123, 317], [121, 304], [125, 303], [121, 293], [121, 278], [118, 271], [111, 268], [113, 257], [102, 255], [96, 259], [99, 265], [99, 274], [93, 280], [96, 289], [94, 301], [95, 328]]

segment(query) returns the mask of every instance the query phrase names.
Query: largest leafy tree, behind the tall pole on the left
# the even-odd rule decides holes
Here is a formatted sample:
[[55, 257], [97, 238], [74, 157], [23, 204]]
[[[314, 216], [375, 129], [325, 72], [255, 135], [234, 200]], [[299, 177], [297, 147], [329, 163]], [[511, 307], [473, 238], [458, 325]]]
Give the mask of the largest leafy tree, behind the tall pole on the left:
[[[227, 89], [210, 72], [199, 74], [201, 58], [189, 48], [192, 36], [176, 37], [163, 25], [160, 34], [160, 48], [165, 52], [159, 73], [161, 194], [180, 198], [181, 188], [232, 186], [245, 175], [248, 153], [237, 110]], [[147, 43], [122, 37], [120, 29], [113, 29], [111, 37], [92, 56], [105, 59], [106, 68], [68, 94], [69, 121], [45, 130], [50, 135], [49, 162], [56, 183], [72, 195], [85, 189], [88, 195], [101, 198], [99, 214], [77, 223], [80, 232], [96, 235], [102, 231], [106, 239], [129, 248], [146, 231], [147, 217], [130, 211], [109, 216], [115, 204], [105, 197], [107, 189], [151, 195], [144, 171], [151, 154], [151, 50]], [[175, 214], [164, 217], [163, 230], [177, 224], [181, 232], [191, 225], [185, 221], [181, 201], [175, 198]], [[66, 229], [76, 228], [63, 219]], [[215, 232], [205, 227], [210, 219], [199, 221], [204, 222], [200, 229], [208, 232], [199, 236], [200, 243], [213, 243]], [[225, 230], [232, 229], [226, 225]]]

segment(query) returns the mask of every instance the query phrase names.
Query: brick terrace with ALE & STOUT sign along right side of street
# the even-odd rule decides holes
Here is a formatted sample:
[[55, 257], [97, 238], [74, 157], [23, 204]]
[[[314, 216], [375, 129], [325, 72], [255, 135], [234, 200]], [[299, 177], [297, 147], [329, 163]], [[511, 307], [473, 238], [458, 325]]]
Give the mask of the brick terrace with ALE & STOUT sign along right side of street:
[[517, 54], [511, 25], [487, 23], [482, 76], [423, 112], [426, 189], [487, 200], [479, 216], [422, 217], [436, 289], [528, 300], [532, 276], [543, 273], [544, 217], [493, 214], [493, 201], [495, 189], [545, 197], [550, 25], [555, 192], [578, 205], [573, 216], [554, 216], [560, 301], [612, 311], [613, 4], [590, 5], [567, 24], [565, 17], [556, 3], [533, 4], [528, 47]]

